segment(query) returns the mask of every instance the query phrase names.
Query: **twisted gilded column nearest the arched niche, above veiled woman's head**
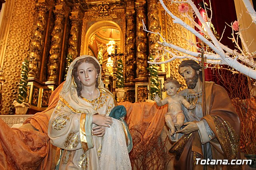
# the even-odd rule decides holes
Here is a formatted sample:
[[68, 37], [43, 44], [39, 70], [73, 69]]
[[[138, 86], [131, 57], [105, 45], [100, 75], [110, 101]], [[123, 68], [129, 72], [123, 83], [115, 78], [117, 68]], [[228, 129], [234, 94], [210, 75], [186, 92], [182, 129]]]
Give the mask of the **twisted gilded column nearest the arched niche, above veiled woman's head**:
[[78, 57], [78, 38], [81, 32], [81, 22], [84, 17], [84, 13], [79, 6], [74, 6], [69, 16], [71, 20], [70, 37], [68, 40], [68, 55], [72, 56], [72, 59]]

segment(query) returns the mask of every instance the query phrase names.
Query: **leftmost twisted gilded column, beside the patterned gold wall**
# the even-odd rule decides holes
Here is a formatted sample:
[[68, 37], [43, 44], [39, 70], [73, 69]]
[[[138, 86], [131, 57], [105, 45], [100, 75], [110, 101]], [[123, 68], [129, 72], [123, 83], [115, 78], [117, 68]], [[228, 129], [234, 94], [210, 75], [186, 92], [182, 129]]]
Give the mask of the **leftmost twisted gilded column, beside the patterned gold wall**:
[[47, 24], [48, 9], [52, 8], [54, 1], [52, 0], [38, 0], [36, 3], [36, 19], [35, 30], [32, 34], [32, 40], [29, 49], [29, 73], [28, 77], [39, 77], [42, 52], [44, 47], [44, 38]]

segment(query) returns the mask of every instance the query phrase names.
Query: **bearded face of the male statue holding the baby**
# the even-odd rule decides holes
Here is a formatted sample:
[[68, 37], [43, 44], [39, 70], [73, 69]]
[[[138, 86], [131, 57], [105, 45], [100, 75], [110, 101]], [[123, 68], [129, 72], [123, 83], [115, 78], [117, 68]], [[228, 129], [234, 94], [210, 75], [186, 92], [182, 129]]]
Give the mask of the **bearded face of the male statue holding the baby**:
[[180, 67], [180, 75], [185, 79], [188, 89], [194, 89], [198, 81], [199, 71], [195, 71], [190, 66]]

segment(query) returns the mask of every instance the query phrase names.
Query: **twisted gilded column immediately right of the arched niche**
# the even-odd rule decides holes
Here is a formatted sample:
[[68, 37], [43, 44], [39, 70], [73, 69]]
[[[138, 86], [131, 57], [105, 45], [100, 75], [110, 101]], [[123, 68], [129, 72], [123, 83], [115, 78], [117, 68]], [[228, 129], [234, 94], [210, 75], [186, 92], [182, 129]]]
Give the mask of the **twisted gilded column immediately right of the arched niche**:
[[135, 61], [135, 18], [134, 1], [126, 2], [126, 83], [133, 83]]

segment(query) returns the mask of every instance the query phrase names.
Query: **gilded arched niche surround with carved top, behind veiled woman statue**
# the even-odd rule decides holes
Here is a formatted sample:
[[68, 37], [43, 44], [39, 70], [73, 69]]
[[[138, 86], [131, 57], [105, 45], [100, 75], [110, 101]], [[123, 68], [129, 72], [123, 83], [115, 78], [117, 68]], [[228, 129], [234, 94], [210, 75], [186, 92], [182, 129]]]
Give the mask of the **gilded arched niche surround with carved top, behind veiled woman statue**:
[[[81, 36], [81, 48], [80, 55], [94, 55], [100, 51], [101, 46], [106, 46], [106, 44], [97, 44], [98, 51], [91, 51], [89, 48], [90, 40], [93, 36], [100, 30], [103, 29], [116, 29], [120, 32], [120, 46], [117, 49], [118, 53], [124, 53], [125, 51], [125, 35], [126, 35], [126, 17], [124, 4], [120, 2], [101, 2], [94, 4], [92, 8], [88, 8], [84, 13], [84, 20], [82, 23], [82, 36]], [[105, 47], [104, 47], [105, 48]], [[105, 51], [106, 52], [106, 51]], [[97, 57], [97, 56], [96, 56]], [[125, 63], [125, 57], [122, 57], [123, 63]], [[104, 81], [105, 87], [112, 91], [112, 75], [110, 75], [108, 69], [105, 67], [107, 62], [106, 53], [103, 57], [103, 67], [102, 67], [102, 79]], [[125, 74], [124, 65], [124, 74]]]

